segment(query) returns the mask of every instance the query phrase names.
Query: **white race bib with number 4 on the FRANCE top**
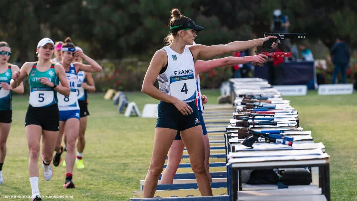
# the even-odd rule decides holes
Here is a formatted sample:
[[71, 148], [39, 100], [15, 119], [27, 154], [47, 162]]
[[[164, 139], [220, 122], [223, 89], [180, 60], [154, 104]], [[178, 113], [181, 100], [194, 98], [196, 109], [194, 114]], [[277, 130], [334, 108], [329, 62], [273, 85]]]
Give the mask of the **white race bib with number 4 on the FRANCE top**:
[[170, 77], [171, 95], [182, 101], [196, 99], [196, 81], [193, 74]]

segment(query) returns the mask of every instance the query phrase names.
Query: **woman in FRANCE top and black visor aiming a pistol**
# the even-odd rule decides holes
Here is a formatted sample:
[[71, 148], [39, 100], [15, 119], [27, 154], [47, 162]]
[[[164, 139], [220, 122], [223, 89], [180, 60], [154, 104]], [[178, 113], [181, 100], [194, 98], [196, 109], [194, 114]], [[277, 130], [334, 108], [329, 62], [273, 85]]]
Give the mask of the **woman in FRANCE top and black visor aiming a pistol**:
[[[143, 93], [160, 100], [153, 153], [145, 178], [143, 197], [154, 196], [165, 158], [177, 131], [181, 132], [189, 153], [201, 195], [209, 196], [212, 195], [212, 189], [204, 167], [203, 131], [195, 104], [197, 90], [194, 61], [262, 45], [264, 41], [276, 37], [236, 41], [226, 45], [186, 47], [193, 44], [196, 31], [203, 30], [203, 27], [181, 15], [178, 9], [173, 9], [171, 13], [169, 27], [174, 40], [169, 46], [156, 51], [142, 85]], [[154, 86], [156, 79], [159, 89]]]

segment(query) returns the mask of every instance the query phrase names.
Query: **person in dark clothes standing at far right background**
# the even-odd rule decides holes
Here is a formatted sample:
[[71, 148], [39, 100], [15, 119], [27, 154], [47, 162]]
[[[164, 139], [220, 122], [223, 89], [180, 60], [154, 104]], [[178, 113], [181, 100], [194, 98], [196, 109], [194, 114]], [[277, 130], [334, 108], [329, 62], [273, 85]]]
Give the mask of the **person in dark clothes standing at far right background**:
[[350, 50], [347, 44], [343, 41], [342, 37], [337, 37], [335, 45], [332, 47], [330, 54], [334, 69], [332, 74], [331, 84], [335, 84], [336, 76], [341, 71], [342, 83], [346, 83], [346, 69], [350, 63]]

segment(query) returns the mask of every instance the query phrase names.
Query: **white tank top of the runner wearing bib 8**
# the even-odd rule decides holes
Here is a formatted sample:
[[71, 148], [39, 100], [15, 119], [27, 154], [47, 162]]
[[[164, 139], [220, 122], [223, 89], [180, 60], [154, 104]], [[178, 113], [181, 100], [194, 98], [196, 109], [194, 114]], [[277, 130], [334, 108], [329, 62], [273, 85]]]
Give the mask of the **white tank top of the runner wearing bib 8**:
[[64, 96], [60, 93], [57, 94], [59, 111], [79, 110], [79, 104], [77, 100], [78, 76], [73, 63], [70, 64], [70, 68], [69, 71], [66, 72], [66, 76], [71, 92], [69, 96]]

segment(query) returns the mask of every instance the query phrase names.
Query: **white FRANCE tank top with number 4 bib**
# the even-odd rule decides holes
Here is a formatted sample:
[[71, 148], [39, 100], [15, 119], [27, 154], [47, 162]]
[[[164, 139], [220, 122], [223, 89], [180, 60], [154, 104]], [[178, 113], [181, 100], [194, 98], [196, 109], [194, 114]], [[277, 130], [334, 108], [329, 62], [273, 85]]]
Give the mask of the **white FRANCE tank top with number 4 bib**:
[[183, 53], [173, 51], [169, 46], [163, 47], [168, 56], [166, 70], [159, 74], [159, 90], [186, 103], [197, 96], [194, 59], [186, 46]]

